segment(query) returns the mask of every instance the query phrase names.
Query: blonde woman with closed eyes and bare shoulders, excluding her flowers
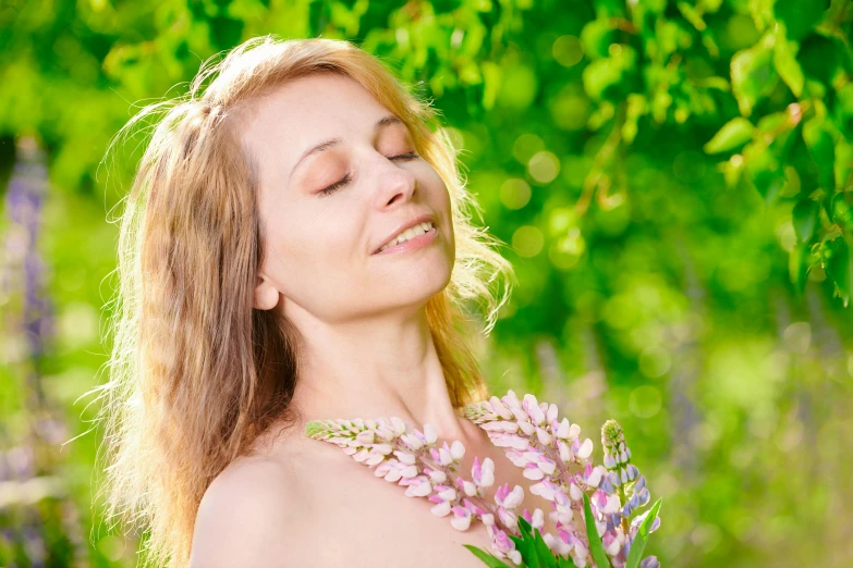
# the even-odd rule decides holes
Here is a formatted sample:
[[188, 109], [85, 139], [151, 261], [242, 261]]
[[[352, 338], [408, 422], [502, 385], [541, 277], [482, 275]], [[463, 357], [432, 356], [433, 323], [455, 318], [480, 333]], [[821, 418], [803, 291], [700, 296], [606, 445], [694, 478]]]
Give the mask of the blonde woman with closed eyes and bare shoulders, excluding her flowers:
[[121, 226], [111, 515], [149, 531], [157, 565], [482, 566], [462, 546], [488, 550], [482, 526], [304, 434], [428, 422], [526, 486], [461, 415], [485, 397], [461, 306], [488, 332], [511, 272], [435, 111], [349, 42], [270, 37], [123, 131], [163, 107]]

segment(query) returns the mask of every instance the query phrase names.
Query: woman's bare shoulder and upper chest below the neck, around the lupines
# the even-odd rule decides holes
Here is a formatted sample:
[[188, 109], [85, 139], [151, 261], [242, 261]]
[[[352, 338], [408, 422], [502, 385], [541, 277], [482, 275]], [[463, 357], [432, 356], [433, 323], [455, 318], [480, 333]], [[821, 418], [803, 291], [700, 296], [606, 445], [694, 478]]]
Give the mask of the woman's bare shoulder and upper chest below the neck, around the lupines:
[[[475, 455], [480, 459], [491, 457], [496, 462], [496, 484], [487, 491], [487, 499], [493, 503], [498, 484], [519, 484], [525, 487], [524, 503], [519, 510], [539, 507], [549, 511], [547, 502], [526, 491], [532, 482], [488, 441], [486, 433], [461, 420], [470, 436], [463, 442], [466, 453], [461, 472], [471, 471]], [[404, 487], [376, 478], [370, 468], [356, 462], [338, 446], [301, 435], [303, 425], [268, 432], [256, 444], [256, 455], [239, 458], [217, 479], [212, 492], [218, 493], [215, 498], [222, 506], [216, 507], [216, 514], [204, 517], [208, 526], [219, 522], [228, 528], [196, 527], [197, 539], [204, 540], [205, 534], [233, 532], [236, 526], [240, 534], [258, 539], [253, 552], [259, 554], [249, 560], [247, 548], [232, 547], [234, 556], [221, 552], [205, 555], [207, 561], [196, 557], [191, 566], [484, 566], [463, 547], [472, 544], [490, 552], [490, 539], [482, 523], [474, 522], [464, 532], [453, 529], [448, 518], [430, 513], [432, 504], [427, 499], [405, 497]], [[233, 505], [226, 504], [245, 498], [247, 491], [263, 494], [273, 509], [271, 514], [223, 519], [227, 507], [229, 514], [234, 514]], [[546, 530], [553, 530], [547, 519]], [[240, 539], [240, 543], [245, 540]], [[208, 552], [221, 544], [221, 539], [207, 543]], [[226, 561], [214, 564], [212, 558]]]

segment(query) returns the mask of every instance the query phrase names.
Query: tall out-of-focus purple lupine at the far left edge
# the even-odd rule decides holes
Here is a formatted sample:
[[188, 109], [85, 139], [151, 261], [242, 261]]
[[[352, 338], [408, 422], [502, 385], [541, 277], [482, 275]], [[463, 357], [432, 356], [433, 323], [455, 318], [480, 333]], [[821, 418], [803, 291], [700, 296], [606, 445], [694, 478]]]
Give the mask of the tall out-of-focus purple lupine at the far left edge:
[[[0, 257], [0, 305], [3, 305], [3, 336], [12, 348], [4, 349], [4, 367], [13, 380], [23, 383], [23, 417], [28, 425], [20, 440], [2, 440], [11, 447], [0, 456], [0, 481], [14, 487], [52, 487], [37, 504], [24, 499], [23, 514], [16, 515], [13, 540], [23, 543], [23, 553], [32, 566], [56, 564], [72, 554], [85, 559], [87, 548], [78, 530], [80, 516], [62, 499], [64, 489], [54, 471], [58, 444], [66, 439], [64, 420], [46, 398], [41, 375], [47, 345], [53, 335], [53, 305], [47, 294], [47, 264], [39, 251], [44, 205], [48, 190], [46, 158], [31, 137], [17, 140], [16, 162], [4, 198], [5, 226]], [[1, 425], [1, 424], [0, 424]], [[0, 429], [0, 437], [8, 432]], [[33, 492], [12, 489], [12, 496]], [[11, 502], [15, 504], [13, 498]], [[71, 546], [70, 546], [71, 545]], [[64, 560], [63, 560], [64, 561]]]

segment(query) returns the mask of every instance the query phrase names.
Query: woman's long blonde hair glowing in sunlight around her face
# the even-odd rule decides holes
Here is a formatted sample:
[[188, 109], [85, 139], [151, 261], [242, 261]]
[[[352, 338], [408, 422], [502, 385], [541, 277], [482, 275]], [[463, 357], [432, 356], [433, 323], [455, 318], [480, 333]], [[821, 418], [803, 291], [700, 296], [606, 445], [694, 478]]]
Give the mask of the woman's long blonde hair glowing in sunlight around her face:
[[203, 65], [185, 96], [144, 108], [113, 140], [145, 124], [153, 131], [124, 200], [109, 380], [96, 388], [107, 515], [146, 533], [146, 564], [185, 566], [210, 482], [273, 421], [294, 418], [295, 330], [277, 310], [253, 309], [265, 252], [257, 172], [237, 129], [248, 102], [313, 73], [361, 84], [404, 121], [447, 185], [456, 261], [427, 318], [453, 405], [485, 396], [467, 343], [471, 314], [488, 333], [513, 279], [497, 242], [472, 221], [477, 206], [438, 111], [348, 41], [248, 40]]

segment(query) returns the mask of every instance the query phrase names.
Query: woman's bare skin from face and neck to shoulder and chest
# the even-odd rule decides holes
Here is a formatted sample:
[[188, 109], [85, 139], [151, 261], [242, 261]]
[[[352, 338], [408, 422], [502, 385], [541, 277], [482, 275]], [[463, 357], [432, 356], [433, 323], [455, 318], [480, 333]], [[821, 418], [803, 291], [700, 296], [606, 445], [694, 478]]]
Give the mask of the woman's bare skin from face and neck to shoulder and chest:
[[[369, 92], [336, 75], [302, 77], [253, 106], [241, 131], [259, 168], [267, 249], [255, 308], [298, 330], [292, 407], [300, 421], [270, 429], [257, 454], [214, 480], [193, 538], [192, 567], [484, 566], [462, 544], [489, 550], [485, 527], [460, 532], [424, 498], [376, 478], [337, 446], [304, 435], [309, 420], [398, 417], [461, 441], [461, 473], [491, 457], [496, 486], [525, 489], [520, 510], [551, 509], [529, 481], [454, 409], [425, 306], [449, 283], [455, 245], [447, 187], [400, 123]], [[319, 141], [329, 149], [296, 165]], [[324, 188], [346, 180], [329, 195]], [[436, 236], [391, 255], [377, 249], [402, 224], [429, 215]]]

